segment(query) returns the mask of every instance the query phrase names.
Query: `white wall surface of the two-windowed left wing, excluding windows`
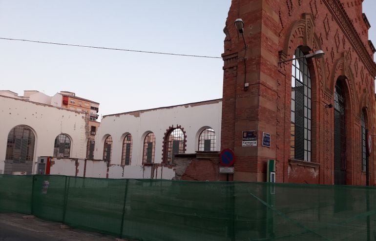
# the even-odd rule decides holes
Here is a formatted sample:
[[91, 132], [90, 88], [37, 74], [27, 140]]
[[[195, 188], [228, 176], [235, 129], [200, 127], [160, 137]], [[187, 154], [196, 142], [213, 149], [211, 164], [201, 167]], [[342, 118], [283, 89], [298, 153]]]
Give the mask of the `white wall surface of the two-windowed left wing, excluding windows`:
[[28, 126], [35, 135], [33, 173], [39, 156], [53, 156], [55, 138], [64, 133], [70, 137], [70, 157], [86, 157], [85, 113], [56, 108], [12, 97], [0, 96], [0, 174], [9, 131], [18, 125]]

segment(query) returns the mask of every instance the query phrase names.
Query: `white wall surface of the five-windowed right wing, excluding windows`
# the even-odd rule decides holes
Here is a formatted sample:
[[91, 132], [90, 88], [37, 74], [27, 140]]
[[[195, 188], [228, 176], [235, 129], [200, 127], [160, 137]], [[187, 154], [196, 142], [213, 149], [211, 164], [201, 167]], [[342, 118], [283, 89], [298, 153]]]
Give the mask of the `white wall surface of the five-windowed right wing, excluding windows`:
[[[106, 115], [101, 120], [101, 126], [95, 136], [94, 159], [102, 160], [104, 141], [108, 135], [112, 136], [112, 154], [109, 168], [110, 178], [133, 178], [143, 166], [143, 145], [145, 136], [149, 132], [155, 135], [154, 164], [162, 163], [163, 138], [169, 127], [181, 126], [186, 133], [185, 153], [195, 153], [198, 150], [198, 138], [202, 130], [211, 128], [215, 131], [215, 150], [220, 150], [222, 100], [203, 101], [186, 105], [145, 111]], [[130, 133], [132, 135], [132, 157], [129, 166], [121, 167], [123, 140]], [[136, 167], [136, 168], [135, 168]], [[165, 168], [163, 178], [172, 169]], [[120, 176], [121, 173], [124, 173]], [[165, 177], [166, 174], [166, 177]], [[145, 172], [144, 172], [145, 176]], [[157, 174], [158, 176], [158, 174]]]

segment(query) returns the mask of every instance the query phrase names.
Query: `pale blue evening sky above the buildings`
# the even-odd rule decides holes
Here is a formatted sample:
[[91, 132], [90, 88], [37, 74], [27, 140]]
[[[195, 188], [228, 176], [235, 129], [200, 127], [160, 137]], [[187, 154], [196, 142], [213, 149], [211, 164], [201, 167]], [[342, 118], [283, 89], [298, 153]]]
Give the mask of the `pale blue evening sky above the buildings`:
[[[0, 0], [0, 37], [221, 56], [230, 0]], [[376, 0], [365, 0], [376, 46]], [[222, 98], [223, 61], [0, 39], [0, 90], [70, 91], [100, 114]]]

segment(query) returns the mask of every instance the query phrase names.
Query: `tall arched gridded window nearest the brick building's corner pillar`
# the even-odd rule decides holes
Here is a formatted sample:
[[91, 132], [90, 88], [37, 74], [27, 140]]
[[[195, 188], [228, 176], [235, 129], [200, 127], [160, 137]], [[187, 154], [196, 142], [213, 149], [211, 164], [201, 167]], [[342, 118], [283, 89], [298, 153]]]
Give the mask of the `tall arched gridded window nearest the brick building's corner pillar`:
[[[300, 48], [293, 58], [304, 56]], [[311, 74], [306, 58], [292, 61], [290, 156], [311, 161], [312, 93]]]

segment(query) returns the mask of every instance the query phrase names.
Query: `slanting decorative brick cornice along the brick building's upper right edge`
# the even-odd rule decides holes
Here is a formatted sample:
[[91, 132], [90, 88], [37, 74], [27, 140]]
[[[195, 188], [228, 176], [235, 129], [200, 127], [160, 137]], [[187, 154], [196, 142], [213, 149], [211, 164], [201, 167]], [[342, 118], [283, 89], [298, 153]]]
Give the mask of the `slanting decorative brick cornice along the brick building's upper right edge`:
[[349, 39], [351, 45], [355, 49], [359, 58], [364, 63], [364, 66], [368, 69], [373, 77], [376, 76], [376, 64], [372, 57], [369, 55], [366, 46], [360, 39], [359, 34], [356, 32], [353, 23], [351, 22], [346, 10], [343, 8], [339, 0], [325, 0], [323, 1], [328, 7], [329, 11], [334, 16], [338, 25], [341, 27], [345, 36]]

